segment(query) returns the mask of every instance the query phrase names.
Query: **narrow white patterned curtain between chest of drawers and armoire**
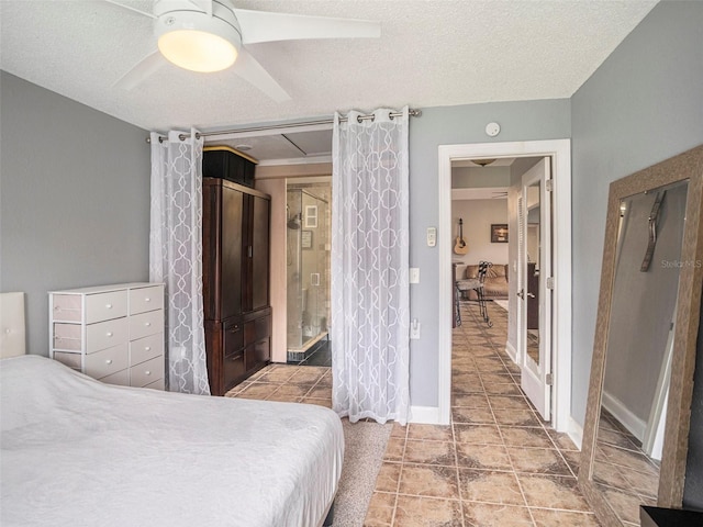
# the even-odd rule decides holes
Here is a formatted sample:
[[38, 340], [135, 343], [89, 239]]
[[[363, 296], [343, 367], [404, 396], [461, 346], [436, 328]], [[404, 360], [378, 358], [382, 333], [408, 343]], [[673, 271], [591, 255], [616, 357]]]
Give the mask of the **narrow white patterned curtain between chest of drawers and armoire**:
[[194, 130], [170, 132], [163, 143], [152, 134], [149, 280], [166, 284], [168, 389], [209, 395], [202, 310], [202, 144]]

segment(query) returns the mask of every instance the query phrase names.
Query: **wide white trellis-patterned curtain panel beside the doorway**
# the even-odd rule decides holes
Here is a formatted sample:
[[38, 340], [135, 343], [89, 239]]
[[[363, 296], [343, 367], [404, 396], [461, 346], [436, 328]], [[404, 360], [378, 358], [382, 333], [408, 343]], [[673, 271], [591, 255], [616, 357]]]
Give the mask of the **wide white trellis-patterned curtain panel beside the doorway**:
[[409, 414], [408, 108], [335, 114], [332, 169], [333, 408], [352, 423]]

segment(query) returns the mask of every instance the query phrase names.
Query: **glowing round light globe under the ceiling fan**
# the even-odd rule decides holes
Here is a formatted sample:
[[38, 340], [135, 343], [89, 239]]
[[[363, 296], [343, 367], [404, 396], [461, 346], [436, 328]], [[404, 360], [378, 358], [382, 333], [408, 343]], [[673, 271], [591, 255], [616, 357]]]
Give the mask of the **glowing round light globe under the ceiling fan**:
[[158, 38], [158, 49], [176, 66], [199, 72], [227, 69], [237, 59], [237, 48], [226, 38], [199, 30], [177, 30]]

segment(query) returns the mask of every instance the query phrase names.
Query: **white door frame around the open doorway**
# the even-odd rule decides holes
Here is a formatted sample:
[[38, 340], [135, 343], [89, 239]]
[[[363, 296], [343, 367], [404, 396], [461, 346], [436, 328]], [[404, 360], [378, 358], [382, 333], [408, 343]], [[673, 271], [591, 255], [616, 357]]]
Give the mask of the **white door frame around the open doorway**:
[[571, 414], [571, 139], [438, 146], [438, 421], [451, 412], [451, 161], [471, 158], [551, 157], [554, 180], [554, 325], [551, 426], [569, 431]]

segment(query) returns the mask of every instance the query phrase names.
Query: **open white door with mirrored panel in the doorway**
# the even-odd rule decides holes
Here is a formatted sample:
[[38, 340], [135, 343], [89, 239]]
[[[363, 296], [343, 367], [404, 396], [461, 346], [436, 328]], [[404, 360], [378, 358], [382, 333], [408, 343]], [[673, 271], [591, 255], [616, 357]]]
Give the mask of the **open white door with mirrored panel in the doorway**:
[[521, 388], [551, 418], [551, 173], [545, 157], [523, 175], [518, 232], [517, 335]]

